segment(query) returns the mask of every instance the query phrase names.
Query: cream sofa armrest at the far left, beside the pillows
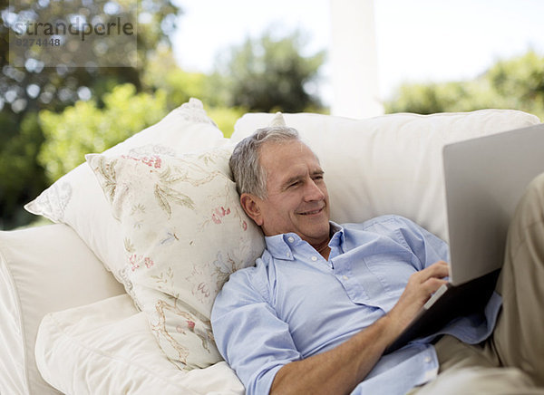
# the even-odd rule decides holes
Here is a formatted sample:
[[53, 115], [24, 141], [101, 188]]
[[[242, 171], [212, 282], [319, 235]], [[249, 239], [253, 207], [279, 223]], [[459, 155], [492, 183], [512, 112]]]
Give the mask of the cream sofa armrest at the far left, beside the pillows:
[[97, 302], [124, 289], [62, 224], [0, 232], [0, 392], [58, 393], [34, 358], [46, 313]]

